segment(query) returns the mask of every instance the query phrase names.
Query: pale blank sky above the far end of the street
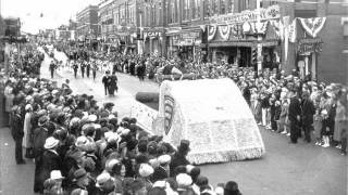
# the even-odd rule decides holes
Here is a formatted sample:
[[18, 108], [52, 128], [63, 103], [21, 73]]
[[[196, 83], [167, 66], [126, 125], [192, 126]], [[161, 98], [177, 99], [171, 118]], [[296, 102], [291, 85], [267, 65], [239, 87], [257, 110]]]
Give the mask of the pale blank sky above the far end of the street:
[[[76, 13], [100, 0], [0, 0], [3, 17], [21, 17], [22, 31], [37, 34], [39, 29], [57, 28], [75, 20]], [[40, 14], [42, 13], [42, 17]]]

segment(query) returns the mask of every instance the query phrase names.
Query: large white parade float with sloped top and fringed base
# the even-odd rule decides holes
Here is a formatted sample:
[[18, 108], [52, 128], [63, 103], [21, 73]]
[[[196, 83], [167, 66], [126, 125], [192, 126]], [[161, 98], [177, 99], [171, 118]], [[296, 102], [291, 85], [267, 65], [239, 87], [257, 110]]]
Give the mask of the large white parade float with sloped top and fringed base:
[[192, 164], [254, 159], [265, 153], [253, 115], [231, 79], [163, 81], [158, 113], [137, 106], [132, 115], [145, 128], [151, 126], [152, 134], [173, 146], [190, 141], [187, 158]]

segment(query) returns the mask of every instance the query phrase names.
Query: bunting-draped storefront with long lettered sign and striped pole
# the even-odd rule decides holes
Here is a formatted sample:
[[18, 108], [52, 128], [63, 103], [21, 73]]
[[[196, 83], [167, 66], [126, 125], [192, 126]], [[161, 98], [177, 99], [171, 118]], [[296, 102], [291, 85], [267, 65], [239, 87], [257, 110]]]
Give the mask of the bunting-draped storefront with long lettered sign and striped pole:
[[[261, 9], [260, 12], [245, 11], [212, 17], [207, 27], [209, 58], [216, 63], [224, 61], [254, 68], [261, 60], [262, 68], [278, 67], [281, 26], [278, 5]], [[262, 58], [258, 58], [258, 51]]]

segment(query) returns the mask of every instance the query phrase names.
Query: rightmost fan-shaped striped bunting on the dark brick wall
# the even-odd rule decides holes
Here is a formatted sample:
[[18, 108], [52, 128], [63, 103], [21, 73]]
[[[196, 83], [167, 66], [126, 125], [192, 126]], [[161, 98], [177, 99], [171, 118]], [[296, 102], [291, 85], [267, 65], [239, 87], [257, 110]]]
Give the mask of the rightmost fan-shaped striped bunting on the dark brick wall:
[[311, 17], [311, 18], [299, 18], [302, 27], [311, 37], [315, 38], [316, 35], [322, 30], [326, 17]]

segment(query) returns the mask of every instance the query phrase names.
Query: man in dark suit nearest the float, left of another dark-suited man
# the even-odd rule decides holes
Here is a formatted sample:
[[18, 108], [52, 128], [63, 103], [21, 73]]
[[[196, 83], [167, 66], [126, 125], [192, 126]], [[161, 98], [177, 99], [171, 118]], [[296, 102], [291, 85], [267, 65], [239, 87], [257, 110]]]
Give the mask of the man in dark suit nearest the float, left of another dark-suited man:
[[300, 133], [301, 104], [297, 96], [297, 91], [290, 92], [290, 104], [288, 118], [290, 121], [290, 143], [296, 144]]

